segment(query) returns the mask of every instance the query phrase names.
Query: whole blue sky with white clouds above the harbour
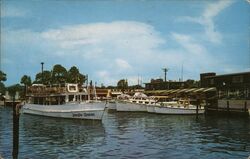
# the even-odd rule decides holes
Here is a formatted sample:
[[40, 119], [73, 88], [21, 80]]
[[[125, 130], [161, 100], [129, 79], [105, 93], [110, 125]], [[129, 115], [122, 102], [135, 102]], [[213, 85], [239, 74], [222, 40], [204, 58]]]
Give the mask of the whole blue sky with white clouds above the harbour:
[[[97, 85], [250, 71], [248, 0], [1, 0], [5, 85], [55, 64]], [[183, 70], [183, 71], [182, 71]], [[183, 72], [183, 74], [182, 74]]]

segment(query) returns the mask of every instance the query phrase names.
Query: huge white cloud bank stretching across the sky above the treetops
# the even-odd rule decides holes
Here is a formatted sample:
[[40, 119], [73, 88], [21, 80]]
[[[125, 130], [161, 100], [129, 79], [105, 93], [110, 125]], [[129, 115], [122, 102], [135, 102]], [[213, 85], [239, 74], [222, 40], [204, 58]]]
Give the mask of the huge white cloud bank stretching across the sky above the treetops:
[[[176, 79], [179, 70], [175, 68], [181, 68], [182, 64], [188, 66], [186, 72], [197, 76], [203, 68], [214, 68], [214, 60], [208, 56], [206, 48], [192, 36], [175, 32], [170, 35], [168, 42], [177, 43], [177, 47], [162, 48], [166, 40], [151, 25], [118, 21], [72, 25], [44, 32], [5, 30], [3, 45], [15, 48], [9, 51], [8, 58], [19, 58], [20, 63], [23, 60], [26, 65], [34, 65], [45, 60], [46, 66], [76, 65], [93, 81], [105, 85], [116, 85], [124, 78], [130, 84], [137, 84], [137, 74], [144, 79], [158, 78], [163, 67], [170, 68], [168, 75], [172, 73], [172, 77], [169, 79]], [[36, 71], [38, 69], [39, 65]]]

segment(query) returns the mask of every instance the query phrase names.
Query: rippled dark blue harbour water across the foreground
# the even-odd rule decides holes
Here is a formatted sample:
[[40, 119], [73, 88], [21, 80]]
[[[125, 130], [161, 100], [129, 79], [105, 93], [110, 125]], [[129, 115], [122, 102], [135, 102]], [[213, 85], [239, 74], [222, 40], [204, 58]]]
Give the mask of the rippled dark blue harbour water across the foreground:
[[[21, 115], [19, 158], [237, 158], [250, 118], [106, 113], [102, 122]], [[0, 156], [12, 158], [12, 111], [0, 107]]]

